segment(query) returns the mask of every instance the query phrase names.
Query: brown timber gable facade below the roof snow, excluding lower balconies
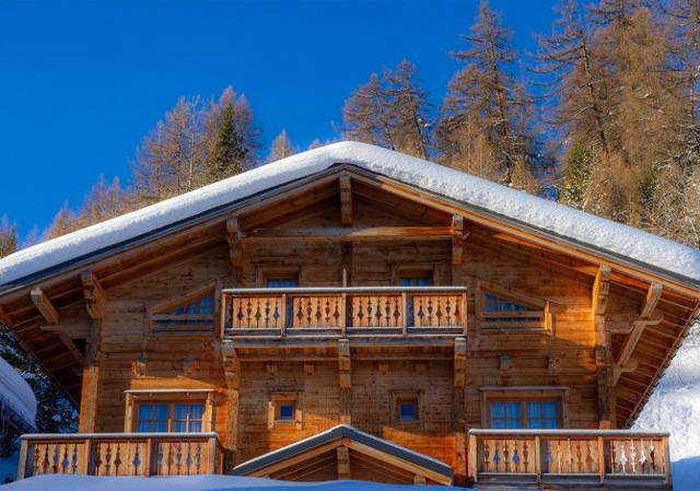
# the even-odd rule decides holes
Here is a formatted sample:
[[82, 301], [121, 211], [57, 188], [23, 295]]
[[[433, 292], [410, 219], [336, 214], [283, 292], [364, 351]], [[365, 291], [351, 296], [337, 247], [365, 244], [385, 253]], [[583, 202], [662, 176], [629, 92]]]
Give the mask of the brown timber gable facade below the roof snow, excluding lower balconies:
[[[206, 458], [228, 471], [346, 424], [464, 483], [502, 452], [493, 435], [469, 447], [470, 429], [629, 428], [698, 297], [686, 279], [339, 163], [4, 287], [0, 319], [79, 405], [83, 433], [215, 434]], [[525, 451], [527, 470], [517, 445], [501, 458]], [[596, 448], [583, 460], [603, 461]], [[325, 478], [352, 476], [337, 461]]]

